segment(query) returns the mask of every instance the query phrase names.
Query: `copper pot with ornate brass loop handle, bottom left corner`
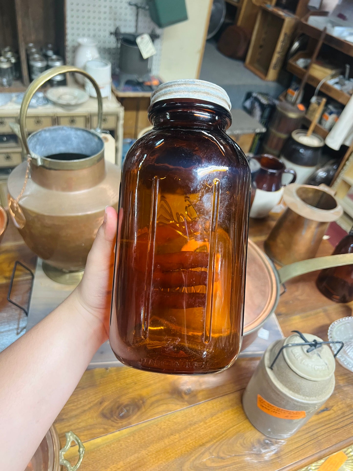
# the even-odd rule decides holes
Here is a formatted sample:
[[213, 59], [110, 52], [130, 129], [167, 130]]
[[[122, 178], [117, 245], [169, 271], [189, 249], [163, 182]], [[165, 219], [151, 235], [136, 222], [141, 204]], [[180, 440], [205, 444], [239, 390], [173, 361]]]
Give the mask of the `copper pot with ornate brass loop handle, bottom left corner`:
[[[61, 471], [63, 466], [67, 471], [78, 470], [85, 454], [85, 447], [75, 433], [66, 432], [65, 437], [65, 446], [60, 449], [59, 436], [56, 428], [52, 425], [24, 471]], [[74, 466], [71, 466], [64, 458], [72, 441], [79, 446], [79, 461]]]

